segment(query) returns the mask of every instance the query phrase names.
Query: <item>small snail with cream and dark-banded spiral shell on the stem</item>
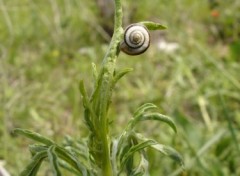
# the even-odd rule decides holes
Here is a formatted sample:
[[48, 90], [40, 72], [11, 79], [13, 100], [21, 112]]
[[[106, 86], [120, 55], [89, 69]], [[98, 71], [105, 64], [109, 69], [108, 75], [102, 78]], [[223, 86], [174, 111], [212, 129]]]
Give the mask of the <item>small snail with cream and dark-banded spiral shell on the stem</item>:
[[150, 45], [148, 29], [139, 23], [129, 25], [124, 31], [124, 40], [120, 49], [128, 55], [144, 53]]

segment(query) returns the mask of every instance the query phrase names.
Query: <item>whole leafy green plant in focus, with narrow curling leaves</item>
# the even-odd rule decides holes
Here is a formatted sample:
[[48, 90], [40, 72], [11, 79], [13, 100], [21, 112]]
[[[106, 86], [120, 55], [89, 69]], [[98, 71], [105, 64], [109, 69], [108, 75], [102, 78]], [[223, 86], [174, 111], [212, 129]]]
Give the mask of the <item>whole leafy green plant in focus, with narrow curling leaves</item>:
[[[164, 29], [165, 27], [154, 22], [138, 23], [148, 30]], [[138, 42], [138, 36], [134, 41]], [[151, 147], [183, 164], [179, 153], [169, 146], [159, 144], [153, 139], [137, 133], [138, 123], [147, 120], [156, 120], [168, 124], [174, 132], [176, 126], [171, 118], [158, 113], [157, 106], [146, 103], [140, 106], [133, 114], [126, 128], [118, 137], [109, 135], [110, 120], [108, 109], [111, 103], [112, 91], [124, 75], [132, 69], [116, 71], [115, 65], [123, 41], [122, 6], [120, 0], [115, 0], [114, 34], [109, 49], [98, 72], [93, 64], [94, 90], [91, 96], [80, 81], [79, 89], [84, 106], [84, 120], [89, 129], [89, 137], [74, 141], [70, 137], [64, 145], [59, 145], [38, 133], [15, 129], [14, 133], [30, 138], [39, 144], [30, 145], [31, 162], [21, 172], [20, 176], [37, 175], [43, 161], [48, 161], [55, 176], [61, 176], [62, 169], [75, 175], [149, 175], [146, 148]]]

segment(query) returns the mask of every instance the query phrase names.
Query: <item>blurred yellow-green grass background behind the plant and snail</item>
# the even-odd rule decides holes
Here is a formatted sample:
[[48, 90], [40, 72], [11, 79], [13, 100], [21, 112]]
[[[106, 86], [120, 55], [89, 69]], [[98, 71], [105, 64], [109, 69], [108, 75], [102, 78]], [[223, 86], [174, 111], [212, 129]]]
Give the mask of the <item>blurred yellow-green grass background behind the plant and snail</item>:
[[[174, 146], [185, 170], [150, 150], [151, 175], [240, 175], [240, 2], [123, 4], [124, 25], [153, 20], [168, 29], [152, 33], [152, 46], [143, 55], [120, 55], [118, 68], [134, 71], [114, 93], [113, 135], [136, 107], [152, 102], [174, 118], [178, 134], [152, 122], [138, 130]], [[91, 63], [99, 65], [106, 52], [113, 20], [101, 14], [96, 1], [0, 0], [0, 160], [12, 175], [29, 161], [31, 143], [13, 136], [14, 128], [59, 143], [66, 135], [87, 136], [78, 83], [84, 79], [91, 90]], [[178, 49], [168, 52], [172, 43]]]

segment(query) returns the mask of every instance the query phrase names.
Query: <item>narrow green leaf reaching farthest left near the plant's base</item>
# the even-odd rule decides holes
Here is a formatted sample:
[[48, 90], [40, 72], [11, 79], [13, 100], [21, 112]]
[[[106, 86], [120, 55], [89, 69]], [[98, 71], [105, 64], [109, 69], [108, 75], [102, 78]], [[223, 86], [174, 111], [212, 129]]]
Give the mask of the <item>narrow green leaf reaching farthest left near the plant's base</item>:
[[32, 131], [29, 131], [29, 130], [16, 128], [16, 129], [13, 130], [13, 133], [23, 135], [23, 136], [25, 136], [29, 139], [32, 139], [34, 141], [43, 143], [47, 146], [50, 146], [50, 145], [54, 144], [54, 142], [51, 139], [48, 139], [48, 138], [40, 135], [39, 133], [32, 132]]

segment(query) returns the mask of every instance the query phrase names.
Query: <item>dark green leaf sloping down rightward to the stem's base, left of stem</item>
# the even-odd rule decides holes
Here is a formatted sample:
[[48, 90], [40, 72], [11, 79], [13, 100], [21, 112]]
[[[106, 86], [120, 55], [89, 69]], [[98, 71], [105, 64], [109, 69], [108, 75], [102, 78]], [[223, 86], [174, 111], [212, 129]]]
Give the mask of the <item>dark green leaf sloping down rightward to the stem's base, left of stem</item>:
[[69, 153], [67, 150], [65, 150], [62, 147], [56, 146], [55, 152], [62, 160], [67, 162], [76, 170], [80, 171], [83, 176], [87, 175], [86, 167], [83, 164], [81, 164], [80, 161], [78, 161], [78, 159], [71, 153]]

